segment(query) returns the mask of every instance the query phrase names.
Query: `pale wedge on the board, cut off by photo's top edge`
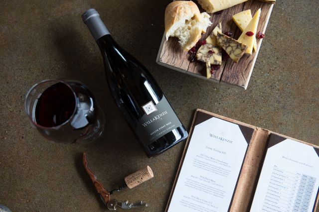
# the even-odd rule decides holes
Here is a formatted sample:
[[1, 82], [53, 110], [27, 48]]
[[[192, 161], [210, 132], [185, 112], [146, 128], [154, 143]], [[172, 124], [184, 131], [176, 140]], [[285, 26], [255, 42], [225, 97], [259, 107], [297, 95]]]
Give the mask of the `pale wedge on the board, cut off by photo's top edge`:
[[208, 13], [217, 12], [227, 9], [236, 4], [245, 2], [247, 0], [197, 0], [203, 9]]

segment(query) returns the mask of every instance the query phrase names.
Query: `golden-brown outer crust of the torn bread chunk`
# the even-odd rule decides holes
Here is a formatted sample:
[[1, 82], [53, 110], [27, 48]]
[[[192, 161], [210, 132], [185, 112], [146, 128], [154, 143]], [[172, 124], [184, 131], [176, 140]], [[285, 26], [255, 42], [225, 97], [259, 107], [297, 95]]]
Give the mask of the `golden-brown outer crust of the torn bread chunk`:
[[[189, 14], [189, 10], [185, 8], [190, 8], [192, 15]], [[186, 13], [184, 11], [186, 11]], [[169, 3], [165, 9], [165, 35], [174, 23], [178, 20], [185, 19], [186, 15], [191, 15], [191, 17], [195, 18], [197, 21], [201, 20], [200, 11], [193, 1], [176, 0]]]

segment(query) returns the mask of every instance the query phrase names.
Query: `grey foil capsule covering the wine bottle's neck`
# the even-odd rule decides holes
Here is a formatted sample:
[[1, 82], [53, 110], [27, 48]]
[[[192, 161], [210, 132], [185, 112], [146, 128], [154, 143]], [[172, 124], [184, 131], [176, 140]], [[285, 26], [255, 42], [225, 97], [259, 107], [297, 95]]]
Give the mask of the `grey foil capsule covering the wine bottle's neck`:
[[94, 39], [97, 41], [100, 37], [110, 34], [104, 25], [99, 13], [95, 9], [88, 9], [82, 14], [82, 20], [89, 28]]

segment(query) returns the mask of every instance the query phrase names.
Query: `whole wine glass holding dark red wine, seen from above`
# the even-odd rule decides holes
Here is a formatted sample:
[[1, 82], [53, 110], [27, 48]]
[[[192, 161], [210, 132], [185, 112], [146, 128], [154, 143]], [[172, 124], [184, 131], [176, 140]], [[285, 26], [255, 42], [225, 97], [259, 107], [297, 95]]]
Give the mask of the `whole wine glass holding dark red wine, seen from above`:
[[43, 80], [28, 91], [24, 108], [32, 127], [57, 143], [89, 143], [104, 129], [102, 109], [79, 81]]

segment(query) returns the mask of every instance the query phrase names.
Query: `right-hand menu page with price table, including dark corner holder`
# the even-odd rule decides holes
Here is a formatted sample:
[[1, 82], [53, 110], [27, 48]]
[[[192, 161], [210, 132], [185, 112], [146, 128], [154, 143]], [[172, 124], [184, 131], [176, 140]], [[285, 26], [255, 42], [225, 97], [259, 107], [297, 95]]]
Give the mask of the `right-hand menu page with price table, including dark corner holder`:
[[283, 137], [270, 136], [251, 212], [312, 212], [319, 188], [319, 151], [278, 138]]

